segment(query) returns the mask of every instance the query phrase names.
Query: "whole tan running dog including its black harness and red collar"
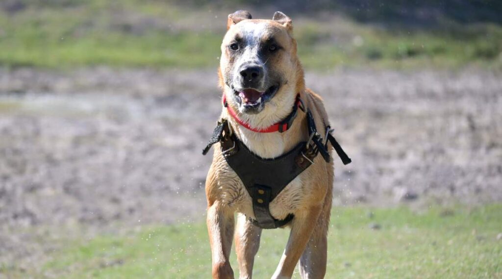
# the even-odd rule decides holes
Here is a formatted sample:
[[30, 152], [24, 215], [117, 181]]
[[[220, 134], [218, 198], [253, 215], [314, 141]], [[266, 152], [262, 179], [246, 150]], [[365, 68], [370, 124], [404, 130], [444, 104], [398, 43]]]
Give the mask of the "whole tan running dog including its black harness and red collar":
[[[291, 278], [298, 261], [302, 278], [323, 278], [334, 179], [327, 138], [332, 137], [321, 97], [305, 87], [291, 19], [281, 12], [272, 20], [252, 19], [246, 11], [230, 14], [218, 76], [223, 109], [204, 151], [216, 144], [205, 185], [212, 277], [234, 278], [232, 237], [239, 277], [251, 278], [262, 227], [289, 227], [272, 278]], [[238, 152], [242, 155], [234, 155]], [[319, 152], [323, 156], [316, 156]], [[288, 164], [298, 169], [294, 176]], [[256, 183], [274, 184], [282, 177], [286, 182], [275, 197], [274, 185]]]

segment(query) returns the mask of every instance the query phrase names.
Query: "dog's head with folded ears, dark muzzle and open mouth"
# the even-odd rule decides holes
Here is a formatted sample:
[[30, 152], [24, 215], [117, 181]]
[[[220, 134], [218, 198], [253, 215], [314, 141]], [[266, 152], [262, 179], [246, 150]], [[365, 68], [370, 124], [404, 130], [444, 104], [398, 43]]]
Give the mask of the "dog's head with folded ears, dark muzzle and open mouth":
[[299, 74], [303, 84], [292, 31], [290, 18], [281, 12], [272, 20], [253, 20], [246, 11], [228, 16], [220, 81], [227, 100], [240, 112], [257, 114], [267, 106], [292, 105]]

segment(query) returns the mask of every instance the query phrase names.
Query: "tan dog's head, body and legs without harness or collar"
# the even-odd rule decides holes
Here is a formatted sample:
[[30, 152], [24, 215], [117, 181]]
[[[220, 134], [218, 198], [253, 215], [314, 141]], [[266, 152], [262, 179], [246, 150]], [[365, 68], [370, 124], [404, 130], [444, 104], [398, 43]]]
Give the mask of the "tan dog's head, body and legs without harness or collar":
[[[273, 20], [252, 20], [248, 12], [238, 11], [228, 16], [221, 44], [219, 81], [228, 106], [223, 107], [221, 119], [228, 122], [226, 132], [261, 158], [276, 158], [300, 142], [308, 142], [307, 116], [301, 111], [284, 132], [252, 130], [266, 129], [287, 117], [297, 95], [312, 113], [322, 136], [329, 125], [321, 98], [305, 88], [292, 31], [291, 20], [283, 13], [277, 12]], [[332, 148], [326, 148], [330, 153]], [[234, 277], [229, 261], [233, 236], [240, 278], [251, 278], [262, 229], [249, 220], [255, 219], [252, 197], [225, 160], [223, 153], [230, 149], [220, 143], [215, 146], [206, 180], [212, 276]], [[286, 225], [291, 228], [290, 237], [272, 278], [291, 278], [299, 260], [302, 278], [324, 277], [333, 163], [321, 156], [313, 161], [270, 202], [269, 210], [275, 219], [294, 214]], [[238, 217], [234, 233], [235, 212]]]

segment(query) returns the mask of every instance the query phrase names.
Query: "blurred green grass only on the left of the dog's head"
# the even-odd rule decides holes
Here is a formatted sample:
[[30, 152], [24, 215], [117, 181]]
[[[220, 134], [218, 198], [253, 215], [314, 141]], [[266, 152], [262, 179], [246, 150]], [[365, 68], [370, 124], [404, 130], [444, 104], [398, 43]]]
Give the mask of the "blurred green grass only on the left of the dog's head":
[[120, 21], [121, 13], [128, 14], [122, 9], [128, 6], [94, 1], [66, 8], [29, 6], [11, 16], [0, 13], [0, 63], [50, 68], [216, 65], [220, 40], [215, 34], [148, 26], [132, 33], [134, 26]]

